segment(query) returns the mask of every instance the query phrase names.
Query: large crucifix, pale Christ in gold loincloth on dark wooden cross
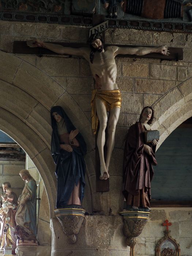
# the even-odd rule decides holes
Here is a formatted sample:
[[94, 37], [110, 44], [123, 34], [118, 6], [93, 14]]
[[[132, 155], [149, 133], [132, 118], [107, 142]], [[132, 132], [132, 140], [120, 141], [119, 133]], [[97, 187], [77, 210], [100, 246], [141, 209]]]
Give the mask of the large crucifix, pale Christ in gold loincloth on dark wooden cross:
[[[93, 16], [93, 25], [103, 22], [103, 15]], [[109, 164], [114, 148], [116, 124], [121, 108], [121, 93], [116, 84], [117, 66], [115, 57], [146, 57], [157, 59], [182, 59], [182, 49], [167, 46], [143, 47], [129, 45], [105, 45], [101, 33], [92, 34], [88, 40], [89, 47], [83, 44], [49, 43], [34, 39], [29, 42], [14, 42], [14, 53], [68, 54], [83, 56], [90, 65], [95, 81], [91, 99], [91, 118], [94, 134], [97, 133], [96, 177], [97, 191], [109, 191]], [[27, 45], [29, 47], [27, 47]], [[109, 116], [108, 114], [109, 113]], [[105, 143], [105, 130], [108, 123], [108, 138]], [[106, 158], [104, 147], [106, 144]], [[97, 150], [96, 150], [97, 151]], [[97, 156], [99, 155], [99, 157]], [[99, 164], [99, 166], [98, 166]]]

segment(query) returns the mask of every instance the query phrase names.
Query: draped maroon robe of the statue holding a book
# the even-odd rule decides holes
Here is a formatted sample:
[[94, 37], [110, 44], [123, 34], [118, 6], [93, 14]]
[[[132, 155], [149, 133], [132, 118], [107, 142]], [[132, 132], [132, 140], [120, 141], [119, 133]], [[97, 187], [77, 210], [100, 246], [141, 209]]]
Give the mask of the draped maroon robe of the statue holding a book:
[[150, 207], [151, 180], [153, 167], [157, 165], [155, 148], [151, 143], [151, 155], [144, 151], [144, 128], [140, 122], [133, 124], [128, 131], [124, 149], [124, 184], [123, 194], [128, 205]]

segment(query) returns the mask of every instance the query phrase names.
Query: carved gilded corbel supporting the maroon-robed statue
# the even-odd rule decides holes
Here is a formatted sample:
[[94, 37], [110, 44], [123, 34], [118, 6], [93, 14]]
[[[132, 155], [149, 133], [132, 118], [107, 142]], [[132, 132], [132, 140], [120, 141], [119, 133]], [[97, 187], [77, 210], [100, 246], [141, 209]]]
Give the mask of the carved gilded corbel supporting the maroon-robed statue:
[[126, 236], [125, 242], [127, 246], [130, 246], [131, 248], [130, 256], [134, 256], [134, 246], [137, 242], [136, 237], [142, 233], [149, 214], [150, 212], [145, 211], [120, 212], [120, 215], [122, 215], [124, 219], [123, 232]]

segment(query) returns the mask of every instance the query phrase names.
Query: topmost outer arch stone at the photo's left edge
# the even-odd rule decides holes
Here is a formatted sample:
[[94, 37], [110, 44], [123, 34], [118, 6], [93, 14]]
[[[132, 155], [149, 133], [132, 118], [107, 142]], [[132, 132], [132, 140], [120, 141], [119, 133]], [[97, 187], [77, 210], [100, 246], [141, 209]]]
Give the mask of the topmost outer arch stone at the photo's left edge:
[[12, 83], [21, 62], [14, 55], [0, 51], [0, 79]]

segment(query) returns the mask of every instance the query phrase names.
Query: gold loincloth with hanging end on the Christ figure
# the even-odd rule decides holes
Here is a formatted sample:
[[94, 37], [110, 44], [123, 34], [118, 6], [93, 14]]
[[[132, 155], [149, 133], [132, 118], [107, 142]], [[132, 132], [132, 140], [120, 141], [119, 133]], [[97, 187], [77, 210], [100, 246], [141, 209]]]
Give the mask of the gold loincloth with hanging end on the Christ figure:
[[109, 112], [113, 108], [121, 108], [121, 93], [120, 90], [112, 90], [112, 91], [100, 91], [93, 90], [91, 97], [91, 120], [92, 120], [92, 129], [93, 133], [97, 132], [98, 127], [98, 116], [96, 112], [96, 98], [101, 99], [105, 104], [106, 111]]

